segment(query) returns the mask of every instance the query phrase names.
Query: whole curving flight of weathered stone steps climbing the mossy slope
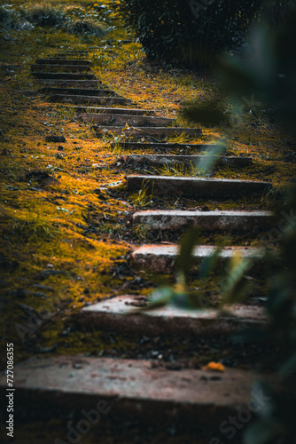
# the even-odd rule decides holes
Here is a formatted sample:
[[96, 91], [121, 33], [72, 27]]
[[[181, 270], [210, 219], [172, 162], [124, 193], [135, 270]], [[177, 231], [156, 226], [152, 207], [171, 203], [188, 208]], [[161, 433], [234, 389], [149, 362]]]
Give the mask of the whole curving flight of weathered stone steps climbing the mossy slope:
[[[183, 134], [194, 139], [199, 138], [202, 131], [175, 126], [174, 119], [158, 115], [153, 110], [140, 109], [132, 100], [118, 97], [116, 91], [102, 85], [91, 74], [90, 61], [83, 58], [87, 53], [88, 50], [70, 51], [48, 59], [36, 59], [32, 75], [43, 84], [39, 90], [41, 94], [51, 102], [74, 107], [83, 122], [96, 123], [96, 128], [102, 133], [111, 131], [118, 135], [124, 131], [126, 139], [119, 143], [121, 150], [129, 147], [145, 151], [149, 147], [155, 153], [165, 152], [165, 155], [119, 155], [119, 163], [128, 164], [131, 168], [141, 163], [185, 168], [199, 161], [202, 155], [172, 155], [172, 148], [180, 150], [180, 153], [184, 147], [191, 148], [194, 153], [204, 153], [214, 147], [213, 144], [167, 143], [164, 140], [167, 136]], [[243, 169], [252, 165], [253, 160], [222, 155], [217, 162]], [[144, 187], [148, 193], [164, 198], [174, 195], [197, 201], [199, 198], [235, 200], [251, 194], [258, 196], [266, 193], [271, 185], [227, 178], [142, 174], [127, 177], [130, 193], [137, 193]], [[134, 226], [145, 226], [148, 230], [177, 232], [193, 225], [209, 232], [244, 231], [250, 236], [272, 224], [268, 211], [245, 210], [142, 210], [135, 211], [132, 220]], [[210, 245], [199, 246], [194, 251], [196, 265], [208, 258], [213, 250]], [[222, 249], [221, 265], [238, 252], [242, 256], [256, 257], [257, 265], [261, 262], [260, 250], [237, 246]], [[154, 274], [173, 274], [176, 255], [176, 243], [136, 245], [131, 263], [137, 269]], [[150, 337], [152, 341], [169, 335], [177, 346], [181, 337], [191, 337], [197, 342], [214, 338], [219, 342], [228, 340], [239, 329], [252, 326], [263, 329], [266, 324], [263, 310], [252, 305], [229, 307], [229, 311], [221, 316], [214, 310], [192, 311], [170, 305], [142, 316], [137, 313], [127, 315], [145, 302], [145, 297], [131, 295], [108, 298], [96, 305], [85, 306], [77, 316], [77, 325], [80, 329], [106, 329], [129, 337]], [[15, 368], [16, 415], [21, 424], [25, 422], [31, 426], [35, 422], [51, 424], [55, 417], [62, 418], [67, 428], [62, 436], [56, 436], [54, 442], [89, 442], [90, 438], [90, 442], [115, 442], [110, 438], [113, 433], [121, 437], [128, 437], [131, 433], [127, 442], [211, 444], [225, 442], [221, 424], [228, 424], [230, 416], [237, 417], [238, 412], [247, 412], [250, 418], [253, 415], [250, 399], [257, 398], [256, 393], [252, 394], [253, 398], [251, 396], [253, 376], [250, 371], [226, 367], [225, 371], [215, 373], [206, 369], [173, 367], [154, 365], [154, 361], [147, 359], [36, 356]], [[4, 394], [4, 374], [0, 383]], [[245, 425], [243, 419], [240, 424]], [[240, 429], [232, 442], [240, 442]], [[102, 433], [110, 440], [104, 440]], [[50, 440], [43, 438], [31, 442]]]

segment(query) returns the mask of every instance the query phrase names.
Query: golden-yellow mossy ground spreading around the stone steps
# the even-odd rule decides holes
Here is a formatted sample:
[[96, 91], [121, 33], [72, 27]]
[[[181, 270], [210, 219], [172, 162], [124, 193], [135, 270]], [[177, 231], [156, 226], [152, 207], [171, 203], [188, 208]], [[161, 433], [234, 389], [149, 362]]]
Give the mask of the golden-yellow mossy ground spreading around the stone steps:
[[[202, 128], [202, 139], [193, 142], [223, 139], [229, 154], [253, 156], [252, 167], [220, 167], [214, 176], [268, 180], [275, 186], [274, 195], [237, 202], [192, 202], [178, 196], [169, 200], [148, 196], [147, 202], [144, 194], [140, 199], [129, 195], [124, 187], [126, 171], [116, 166], [117, 155], [123, 151], [110, 145], [123, 141], [124, 131], [120, 137], [111, 131], [97, 138], [73, 109], [50, 104], [36, 92], [40, 85], [30, 74], [30, 64], [63, 49], [102, 45], [88, 54], [92, 71], [102, 83], [137, 106], [174, 117], [184, 126], [192, 126], [180, 115], [185, 102], [211, 99], [221, 91], [211, 73], [153, 65], [140, 44], [123, 44], [121, 40], [130, 36], [108, 7], [101, 8], [107, 3], [51, 2], [68, 14], [89, 14], [104, 22], [109, 32], [101, 38], [75, 36], [56, 27], [0, 28], [1, 349], [5, 352], [7, 341], [14, 342], [16, 361], [51, 351], [99, 355], [115, 350], [124, 355], [133, 346], [121, 337], [106, 338], [103, 332], [77, 331], [73, 320], [85, 304], [122, 289], [146, 294], [152, 287], [151, 277], [138, 286], [127, 265], [132, 245], [157, 239], [141, 227], [129, 227], [134, 210], [205, 205], [208, 209], [268, 209], [294, 180], [292, 140], [277, 129], [269, 109], [245, 99], [247, 113], [235, 117], [231, 129]], [[11, 4], [16, 10], [24, 5]], [[66, 142], [46, 142], [52, 134], [65, 136]], [[221, 242], [221, 236], [205, 235], [204, 242]], [[229, 243], [239, 242], [256, 245], [261, 240], [229, 235]]]

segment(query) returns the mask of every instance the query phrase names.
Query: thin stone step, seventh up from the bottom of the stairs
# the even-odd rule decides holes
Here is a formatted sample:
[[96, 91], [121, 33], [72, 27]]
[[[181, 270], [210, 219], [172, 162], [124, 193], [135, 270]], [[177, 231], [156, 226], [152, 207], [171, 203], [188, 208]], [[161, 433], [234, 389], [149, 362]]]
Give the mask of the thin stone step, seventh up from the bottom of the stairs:
[[[112, 142], [112, 147], [115, 146], [115, 142]], [[214, 144], [203, 144], [203, 143], [167, 143], [167, 142], [131, 142], [126, 140], [125, 142], [116, 142], [116, 147], [129, 148], [129, 149], [153, 149], [155, 151], [159, 149], [171, 150], [178, 148], [181, 150], [193, 148], [196, 151], [206, 151], [214, 149], [217, 145]]]

